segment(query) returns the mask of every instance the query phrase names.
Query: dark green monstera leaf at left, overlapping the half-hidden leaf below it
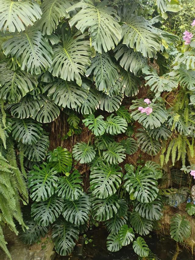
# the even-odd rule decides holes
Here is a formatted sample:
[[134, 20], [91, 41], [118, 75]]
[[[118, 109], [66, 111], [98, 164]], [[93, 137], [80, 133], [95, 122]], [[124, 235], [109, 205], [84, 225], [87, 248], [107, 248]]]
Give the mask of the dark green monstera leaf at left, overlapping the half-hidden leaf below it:
[[32, 119], [12, 119], [12, 137], [23, 144], [35, 144], [42, 130], [41, 124]]

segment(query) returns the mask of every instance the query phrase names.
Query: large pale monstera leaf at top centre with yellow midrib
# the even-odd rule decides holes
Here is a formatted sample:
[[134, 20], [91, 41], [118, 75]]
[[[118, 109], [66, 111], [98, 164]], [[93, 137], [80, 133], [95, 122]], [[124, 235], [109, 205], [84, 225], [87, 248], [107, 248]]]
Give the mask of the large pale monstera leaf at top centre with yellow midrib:
[[70, 27], [76, 26], [82, 33], [88, 29], [91, 38], [91, 45], [98, 52], [105, 52], [114, 49], [121, 40], [121, 27], [119, 16], [115, 9], [106, 7], [107, 1], [97, 2], [93, 0], [81, 0], [67, 12], [78, 8], [80, 11], [69, 20]]

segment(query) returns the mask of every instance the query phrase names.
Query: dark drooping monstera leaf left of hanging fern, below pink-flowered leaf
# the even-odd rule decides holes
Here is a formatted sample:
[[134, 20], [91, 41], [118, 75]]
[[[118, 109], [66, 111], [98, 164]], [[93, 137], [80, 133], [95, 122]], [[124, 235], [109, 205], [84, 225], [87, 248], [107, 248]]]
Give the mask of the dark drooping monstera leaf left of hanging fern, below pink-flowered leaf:
[[161, 150], [161, 143], [150, 137], [144, 129], [139, 128], [136, 137], [137, 144], [143, 152], [149, 155], [157, 155]]

